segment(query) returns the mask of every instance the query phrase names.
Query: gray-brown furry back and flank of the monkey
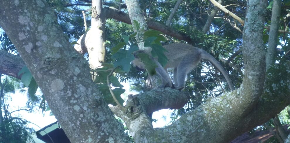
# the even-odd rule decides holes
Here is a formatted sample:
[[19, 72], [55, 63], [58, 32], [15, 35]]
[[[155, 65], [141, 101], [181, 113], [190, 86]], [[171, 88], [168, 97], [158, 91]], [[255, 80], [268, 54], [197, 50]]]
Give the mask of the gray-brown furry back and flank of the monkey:
[[184, 57], [200, 55], [200, 49], [185, 43], [174, 43], [163, 46], [168, 52], [164, 52], [168, 58], [165, 68], [177, 67]]

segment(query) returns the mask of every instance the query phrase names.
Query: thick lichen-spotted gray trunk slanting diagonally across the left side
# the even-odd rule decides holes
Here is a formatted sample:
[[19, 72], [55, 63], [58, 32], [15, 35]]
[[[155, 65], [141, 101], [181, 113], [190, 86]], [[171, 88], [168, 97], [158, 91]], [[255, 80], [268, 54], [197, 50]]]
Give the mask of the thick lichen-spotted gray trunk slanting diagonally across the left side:
[[0, 19], [71, 142], [126, 142], [46, 1], [0, 1]]

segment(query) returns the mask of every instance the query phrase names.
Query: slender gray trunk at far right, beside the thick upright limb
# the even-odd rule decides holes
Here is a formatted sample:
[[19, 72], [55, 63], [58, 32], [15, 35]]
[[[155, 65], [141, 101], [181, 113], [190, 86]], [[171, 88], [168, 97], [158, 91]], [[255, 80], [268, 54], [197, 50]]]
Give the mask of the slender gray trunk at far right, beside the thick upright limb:
[[280, 9], [281, 9], [281, 0], [274, 0], [272, 6], [271, 26], [266, 56], [266, 69], [268, 69], [269, 67], [271, 67], [271, 65], [274, 64], [275, 57], [277, 56], [276, 48], [280, 22]]

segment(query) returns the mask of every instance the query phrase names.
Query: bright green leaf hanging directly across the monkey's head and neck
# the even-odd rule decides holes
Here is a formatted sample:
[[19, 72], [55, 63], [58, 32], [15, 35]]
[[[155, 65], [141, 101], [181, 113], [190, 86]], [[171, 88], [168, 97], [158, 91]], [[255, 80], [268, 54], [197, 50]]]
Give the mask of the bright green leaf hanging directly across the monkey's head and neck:
[[156, 63], [149, 58], [149, 55], [146, 53], [138, 53], [137, 56], [139, 59], [145, 64], [145, 67], [147, 69], [147, 72], [149, 72], [150, 75], [156, 74], [155, 68], [158, 67]]

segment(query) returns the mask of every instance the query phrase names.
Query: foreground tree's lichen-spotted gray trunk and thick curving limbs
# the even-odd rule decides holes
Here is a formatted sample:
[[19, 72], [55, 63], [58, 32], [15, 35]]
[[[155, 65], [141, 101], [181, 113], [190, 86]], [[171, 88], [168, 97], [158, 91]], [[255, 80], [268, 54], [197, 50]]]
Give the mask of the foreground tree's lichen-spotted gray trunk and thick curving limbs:
[[[266, 1], [248, 1], [243, 36], [245, 76], [240, 88], [207, 100], [166, 128], [153, 129], [147, 114], [160, 107], [180, 107], [187, 96], [179, 91], [158, 89], [137, 95], [146, 109], [137, 118], [130, 119], [120, 108], [112, 109], [123, 118], [136, 142], [229, 142], [290, 104], [289, 61], [274, 64], [277, 70], [264, 80], [261, 25], [265, 5]], [[87, 61], [71, 47], [45, 1], [0, 1], [0, 19], [0, 26], [16, 46], [71, 142], [128, 142], [91, 80]], [[3, 55], [6, 60], [15, 56], [0, 52], [1, 58]]]

